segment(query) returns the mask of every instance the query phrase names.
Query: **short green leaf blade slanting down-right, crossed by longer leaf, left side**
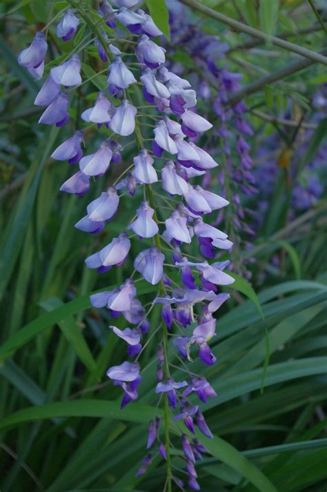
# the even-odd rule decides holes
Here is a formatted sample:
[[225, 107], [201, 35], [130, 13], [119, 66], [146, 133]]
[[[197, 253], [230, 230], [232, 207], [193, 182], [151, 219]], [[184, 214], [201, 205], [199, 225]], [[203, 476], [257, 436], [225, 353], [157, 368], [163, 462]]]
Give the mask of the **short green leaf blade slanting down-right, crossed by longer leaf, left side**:
[[[40, 306], [42, 306], [46, 311], [53, 311], [55, 308], [59, 306], [63, 306], [63, 302], [61, 302], [57, 298], [48, 299], [48, 301], [40, 302]], [[72, 316], [66, 317], [63, 321], [58, 322], [58, 326], [65, 335], [68, 342], [72, 345], [75, 352], [88, 368], [90, 373], [96, 373], [97, 364], [92, 356], [90, 348], [88, 348], [88, 344], [81, 333], [81, 330], [77, 327], [77, 324]]]

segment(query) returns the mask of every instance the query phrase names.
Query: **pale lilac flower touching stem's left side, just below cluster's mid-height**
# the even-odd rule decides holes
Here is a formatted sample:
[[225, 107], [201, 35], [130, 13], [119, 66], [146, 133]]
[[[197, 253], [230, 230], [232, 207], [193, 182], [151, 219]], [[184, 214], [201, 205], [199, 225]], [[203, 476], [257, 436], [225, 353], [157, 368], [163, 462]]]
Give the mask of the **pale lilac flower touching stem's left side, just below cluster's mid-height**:
[[165, 255], [156, 246], [153, 246], [137, 255], [134, 268], [143, 275], [147, 282], [156, 285], [164, 274], [164, 260]]

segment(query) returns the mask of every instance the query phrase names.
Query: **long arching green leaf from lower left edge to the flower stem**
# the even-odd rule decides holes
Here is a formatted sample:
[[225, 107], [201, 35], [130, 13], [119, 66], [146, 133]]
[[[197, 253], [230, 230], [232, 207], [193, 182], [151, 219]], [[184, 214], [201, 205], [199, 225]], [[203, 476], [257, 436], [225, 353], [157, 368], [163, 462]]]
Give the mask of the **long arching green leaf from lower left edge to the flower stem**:
[[42, 406], [28, 406], [26, 409], [8, 415], [1, 420], [0, 429], [11, 429], [26, 422], [54, 417], [109, 417], [126, 422], [148, 424], [153, 417], [154, 410], [152, 406], [134, 403], [121, 411], [119, 402], [87, 398], [70, 402], [53, 402]]

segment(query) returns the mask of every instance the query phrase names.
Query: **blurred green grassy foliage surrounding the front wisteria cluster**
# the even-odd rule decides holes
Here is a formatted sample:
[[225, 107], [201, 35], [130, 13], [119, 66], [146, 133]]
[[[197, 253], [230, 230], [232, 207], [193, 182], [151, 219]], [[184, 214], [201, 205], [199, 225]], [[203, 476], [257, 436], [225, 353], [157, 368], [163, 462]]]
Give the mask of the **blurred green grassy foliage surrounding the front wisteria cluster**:
[[[156, 13], [161, 2], [146, 3], [164, 22], [165, 16]], [[327, 83], [326, 66], [312, 63], [273, 80], [270, 75], [299, 57], [274, 46], [269, 36], [323, 52], [326, 33], [319, 20], [325, 19], [326, 26], [326, 6], [315, 0], [315, 13], [304, 0], [200, 3], [268, 35], [266, 43], [255, 45], [255, 38], [192, 10], [204, 32], [228, 42], [230, 49], [219, 63], [228, 61], [230, 70], [243, 73], [243, 99], [255, 130], [250, 138], [255, 173], [268, 163], [275, 174], [271, 193], [261, 189], [245, 200], [261, 214], [250, 253], [235, 253], [242, 264], [252, 257], [246, 264], [251, 279], [237, 277], [236, 291], [219, 313], [213, 348], [217, 364], [201, 370], [218, 397], [206, 410], [217, 437], [201, 437], [212, 457], [199, 467], [199, 482], [208, 492], [325, 492], [326, 188], [305, 210], [291, 197], [297, 184], [305, 188], [308, 164], [326, 149], [326, 115], [317, 115], [313, 107], [315, 93]], [[122, 355], [108, 336], [106, 313], [99, 317], [90, 309], [90, 292], [119, 284], [123, 268], [100, 280], [85, 268], [83, 259], [97, 241], [106, 242], [106, 235], [97, 239], [73, 228], [86, 199], [59, 195], [68, 166], [49, 157], [76, 128], [76, 110], [70, 128], [38, 126], [33, 100], [39, 81], [16, 61], [34, 30], [66, 6], [65, 1], [43, 0], [0, 6], [1, 491], [161, 490], [166, 471], [159, 459], [135, 479], [154, 411], [155, 371], [150, 366], [140, 399], [121, 412], [119, 391], [104, 375], [109, 361], [119, 364]], [[79, 29], [66, 48], [50, 28], [53, 58], [88, 41], [88, 33]], [[167, 24], [164, 29], [168, 35]], [[92, 100], [104, 76], [94, 77], [92, 45], [84, 56], [84, 76], [92, 80], [81, 97]], [[175, 46], [174, 56], [192, 72], [195, 62], [183, 46]], [[258, 79], [261, 85], [253, 90]], [[295, 126], [283, 121], [288, 108], [288, 121]], [[311, 125], [310, 135], [299, 139], [304, 122]], [[273, 149], [265, 154], [271, 139]], [[324, 187], [326, 155], [318, 170]], [[295, 164], [297, 173], [290, 179]], [[99, 195], [99, 186], [94, 188], [91, 198]], [[268, 203], [261, 212], [263, 200]], [[122, 222], [131, 215], [132, 202], [129, 206], [126, 202], [119, 215]], [[115, 227], [119, 231], [119, 224], [111, 224], [111, 233]], [[152, 286], [139, 285], [146, 299]], [[148, 357], [150, 363], [154, 351]]]

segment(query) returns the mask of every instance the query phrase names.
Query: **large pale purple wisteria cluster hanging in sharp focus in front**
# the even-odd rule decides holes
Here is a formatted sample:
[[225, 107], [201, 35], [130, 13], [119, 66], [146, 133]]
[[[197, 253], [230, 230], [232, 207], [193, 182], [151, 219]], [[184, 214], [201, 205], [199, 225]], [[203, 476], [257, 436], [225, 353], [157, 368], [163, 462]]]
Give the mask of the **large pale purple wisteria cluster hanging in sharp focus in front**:
[[[197, 93], [190, 83], [165, 66], [166, 50], [152, 39], [162, 33], [150, 15], [137, 8], [137, 3], [137, 0], [112, 0], [111, 6], [101, 1], [99, 21], [98, 17], [92, 19], [92, 13], [86, 12], [77, 1], [71, 1], [72, 9], [66, 10], [59, 21], [57, 35], [63, 41], [75, 35], [79, 23], [86, 23], [96, 36], [99, 57], [108, 68], [108, 87], [99, 92], [93, 106], [85, 108], [80, 116], [87, 128], [102, 126], [108, 136], [95, 152], [83, 155], [86, 135], [83, 130], [77, 130], [54, 150], [52, 157], [77, 166], [77, 172], [60, 188], [75, 195], [85, 195], [95, 179], [106, 177], [112, 164], [121, 166], [115, 184], [91, 201], [86, 215], [75, 224], [83, 232], [97, 234], [108, 227], [116, 215], [119, 217], [123, 197], [134, 197], [136, 215], [131, 217], [128, 226], [122, 226], [117, 237], [86, 258], [88, 268], [95, 268], [99, 273], [119, 268], [130, 259], [133, 239], [140, 244], [142, 240], [152, 243], [132, 258], [134, 270], [121, 286], [91, 296], [92, 306], [108, 309], [112, 317], [111, 336], [119, 337], [126, 344], [126, 360], [111, 366], [107, 375], [123, 390], [122, 409], [137, 400], [146, 339], [161, 328], [155, 393], [164, 400], [166, 431], [174, 425], [181, 435], [188, 485], [199, 490], [195, 462], [207, 451], [194, 436], [195, 424], [207, 437], [212, 434], [199, 404], [192, 403], [190, 396], [194, 394], [205, 404], [208, 397], [215, 397], [216, 393], [204, 377], [188, 369], [185, 380], [174, 380], [170, 374], [170, 352], [181, 361], [181, 368], [187, 368], [186, 362], [196, 354], [203, 364], [215, 363], [215, 355], [210, 350], [210, 340], [216, 330], [215, 313], [229, 297], [219, 292], [219, 286], [232, 284], [234, 279], [224, 271], [228, 261], [215, 261], [219, 259], [219, 251], [230, 250], [232, 243], [226, 233], [208, 221], [212, 213], [227, 206], [228, 201], [197, 184], [198, 177], [218, 165], [201, 146], [201, 135], [210, 130], [212, 124], [198, 114]], [[126, 40], [128, 46], [132, 46], [128, 52], [119, 44], [126, 46]], [[19, 55], [19, 63], [35, 77], [43, 73], [47, 47], [45, 36], [37, 32], [30, 47]], [[34, 101], [44, 108], [40, 124], [60, 127], [67, 123], [70, 89], [81, 85], [80, 72], [81, 59], [76, 52], [58, 66], [52, 66]], [[142, 106], [139, 88], [145, 100]], [[151, 128], [150, 144], [143, 137], [143, 128]], [[126, 168], [123, 166], [124, 148], [135, 141], [138, 148], [132, 164]], [[245, 144], [240, 142], [239, 146], [246, 152]], [[188, 255], [191, 242], [197, 242], [199, 257]], [[201, 254], [210, 259], [210, 263], [202, 259]], [[156, 306], [161, 309], [159, 328], [150, 326], [146, 308], [137, 296], [139, 279], [158, 287], [150, 309]], [[119, 316], [126, 320], [126, 328], [115, 326]], [[165, 433], [165, 442], [162, 442], [161, 427], [161, 420], [154, 415], [149, 424], [148, 454], [137, 476], [143, 474], [154, 455], [160, 453], [167, 460], [166, 485], [171, 490], [172, 480], [180, 487], [183, 484], [172, 475], [169, 433]]]

